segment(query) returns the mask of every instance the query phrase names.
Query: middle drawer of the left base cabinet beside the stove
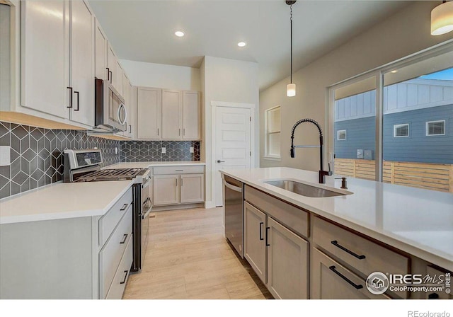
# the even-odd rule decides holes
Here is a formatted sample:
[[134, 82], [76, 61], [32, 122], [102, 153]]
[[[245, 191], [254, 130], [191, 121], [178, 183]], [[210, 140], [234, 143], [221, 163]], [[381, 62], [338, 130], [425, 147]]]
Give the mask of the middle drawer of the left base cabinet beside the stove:
[[127, 209], [120, 224], [113, 231], [105, 246], [99, 253], [99, 285], [101, 298], [105, 298], [115, 272], [120, 264], [120, 259], [125, 251], [128, 241], [132, 236], [132, 205]]

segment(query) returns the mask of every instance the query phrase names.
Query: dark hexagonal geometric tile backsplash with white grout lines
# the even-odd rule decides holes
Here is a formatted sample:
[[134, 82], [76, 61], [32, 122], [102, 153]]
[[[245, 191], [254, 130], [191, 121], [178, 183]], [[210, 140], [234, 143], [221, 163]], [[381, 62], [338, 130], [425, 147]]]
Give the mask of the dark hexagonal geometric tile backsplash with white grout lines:
[[[84, 130], [42, 129], [1, 121], [0, 146], [11, 146], [11, 165], [0, 166], [0, 199], [61, 181], [64, 149], [97, 147], [103, 166], [120, 161], [200, 161], [200, 142], [117, 141], [88, 136]], [[195, 153], [190, 153], [190, 146]], [[161, 147], [166, 147], [166, 154], [161, 154]]]

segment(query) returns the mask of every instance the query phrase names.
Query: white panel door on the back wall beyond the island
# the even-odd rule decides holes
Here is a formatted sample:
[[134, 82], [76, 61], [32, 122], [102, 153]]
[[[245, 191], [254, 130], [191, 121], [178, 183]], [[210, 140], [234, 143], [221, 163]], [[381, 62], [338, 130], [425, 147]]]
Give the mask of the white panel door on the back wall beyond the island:
[[250, 168], [251, 166], [251, 110], [248, 108], [217, 107], [215, 128], [216, 183], [215, 203], [222, 206], [222, 177], [224, 168]]

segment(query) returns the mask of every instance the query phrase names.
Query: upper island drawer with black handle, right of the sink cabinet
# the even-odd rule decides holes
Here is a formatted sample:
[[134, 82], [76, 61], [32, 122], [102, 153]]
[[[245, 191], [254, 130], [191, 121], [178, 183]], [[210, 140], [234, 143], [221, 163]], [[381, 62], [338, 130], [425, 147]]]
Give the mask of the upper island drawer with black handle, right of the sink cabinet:
[[[314, 217], [313, 241], [365, 277], [372, 272], [408, 274], [405, 256], [318, 217]], [[398, 294], [406, 297], [406, 293]]]

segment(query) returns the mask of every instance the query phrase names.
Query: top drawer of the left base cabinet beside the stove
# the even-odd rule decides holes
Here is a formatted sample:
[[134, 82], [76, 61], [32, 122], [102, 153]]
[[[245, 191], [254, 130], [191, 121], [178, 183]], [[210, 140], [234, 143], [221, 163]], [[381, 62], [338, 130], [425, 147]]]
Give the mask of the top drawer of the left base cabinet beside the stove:
[[129, 207], [132, 206], [132, 188], [122, 195], [115, 205], [99, 219], [99, 246], [103, 246], [115, 226]]

